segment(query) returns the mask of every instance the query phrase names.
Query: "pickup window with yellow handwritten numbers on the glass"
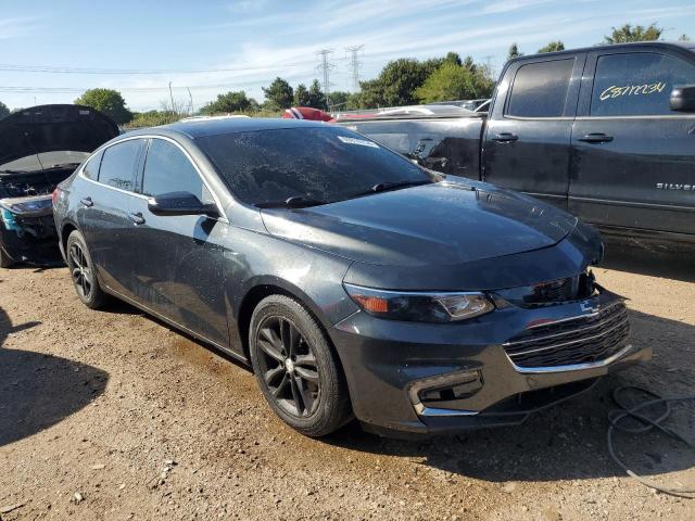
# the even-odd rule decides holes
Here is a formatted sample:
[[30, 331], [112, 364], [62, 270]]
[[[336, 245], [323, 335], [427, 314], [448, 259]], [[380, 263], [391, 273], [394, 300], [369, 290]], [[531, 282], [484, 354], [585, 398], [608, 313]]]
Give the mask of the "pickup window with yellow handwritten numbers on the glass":
[[656, 52], [607, 54], [594, 77], [592, 116], [666, 115], [673, 87], [695, 84], [695, 65]]

